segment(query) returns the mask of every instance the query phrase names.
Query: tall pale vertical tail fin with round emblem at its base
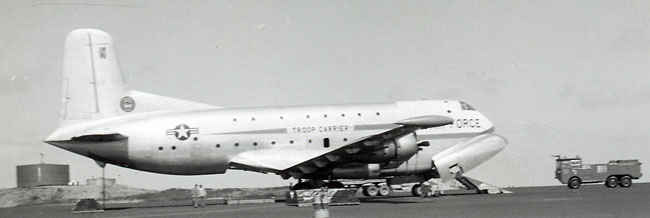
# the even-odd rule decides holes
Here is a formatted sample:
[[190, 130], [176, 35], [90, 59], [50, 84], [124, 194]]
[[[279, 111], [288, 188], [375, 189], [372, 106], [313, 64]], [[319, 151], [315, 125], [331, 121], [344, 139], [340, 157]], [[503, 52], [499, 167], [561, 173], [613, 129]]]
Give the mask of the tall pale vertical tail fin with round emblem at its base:
[[[148, 105], [138, 105], [136, 102]], [[77, 29], [65, 40], [61, 125], [130, 112], [214, 108], [207, 104], [130, 91], [117, 62], [111, 36]]]

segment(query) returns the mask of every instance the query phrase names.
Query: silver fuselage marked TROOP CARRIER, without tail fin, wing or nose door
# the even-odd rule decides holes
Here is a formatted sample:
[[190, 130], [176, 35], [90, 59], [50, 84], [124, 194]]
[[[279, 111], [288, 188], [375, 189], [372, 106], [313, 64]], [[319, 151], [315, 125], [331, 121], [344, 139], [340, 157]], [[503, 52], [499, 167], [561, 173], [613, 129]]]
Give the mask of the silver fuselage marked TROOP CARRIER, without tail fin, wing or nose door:
[[[431, 144], [412, 157], [423, 162], [430, 162], [445, 148], [493, 130], [485, 116], [464, 108], [459, 101], [423, 100], [139, 113], [60, 128], [46, 142], [137, 170], [175, 175], [221, 174], [231, 167], [230, 159], [241, 152], [279, 146], [332, 150], [395, 128], [400, 120], [431, 114], [451, 117], [454, 123], [416, 132], [418, 141]], [[69, 140], [98, 132], [125, 138], [106, 142]]]

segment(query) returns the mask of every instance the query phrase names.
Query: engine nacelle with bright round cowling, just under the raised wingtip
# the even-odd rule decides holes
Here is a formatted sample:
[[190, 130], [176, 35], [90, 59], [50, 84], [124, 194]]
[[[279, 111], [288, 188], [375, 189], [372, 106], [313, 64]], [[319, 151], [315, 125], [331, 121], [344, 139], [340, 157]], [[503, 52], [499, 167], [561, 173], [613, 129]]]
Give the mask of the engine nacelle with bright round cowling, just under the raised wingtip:
[[402, 162], [408, 160], [418, 152], [417, 138], [415, 133], [388, 140], [383, 145], [384, 149], [373, 153], [360, 155], [359, 161], [364, 163], [385, 163], [388, 161]]

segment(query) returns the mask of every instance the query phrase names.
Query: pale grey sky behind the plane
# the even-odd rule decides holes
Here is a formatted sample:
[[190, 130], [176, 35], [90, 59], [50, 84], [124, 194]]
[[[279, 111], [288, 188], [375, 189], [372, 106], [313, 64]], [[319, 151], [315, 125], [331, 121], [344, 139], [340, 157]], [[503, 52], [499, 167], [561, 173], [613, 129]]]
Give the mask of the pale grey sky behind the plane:
[[[0, 187], [15, 166], [88, 158], [42, 143], [58, 126], [63, 42], [113, 36], [129, 86], [218, 106], [462, 99], [508, 147], [469, 173], [501, 186], [558, 185], [553, 154], [640, 159], [650, 181], [650, 2], [0, 1]], [[287, 185], [229, 171], [171, 176], [110, 166], [152, 189]], [[155, 182], [154, 182], [155, 181]]]

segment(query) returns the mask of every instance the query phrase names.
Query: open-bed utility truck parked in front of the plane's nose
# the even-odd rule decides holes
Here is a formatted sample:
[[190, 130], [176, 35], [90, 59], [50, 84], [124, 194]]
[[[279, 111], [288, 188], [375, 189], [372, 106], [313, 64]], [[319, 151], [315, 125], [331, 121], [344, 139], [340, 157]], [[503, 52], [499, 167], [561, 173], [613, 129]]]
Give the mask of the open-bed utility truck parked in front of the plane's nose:
[[607, 188], [629, 188], [632, 180], [641, 178], [641, 162], [610, 160], [607, 163], [585, 164], [582, 158], [555, 157], [555, 178], [570, 189], [579, 189], [585, 183], [603, 183]]

